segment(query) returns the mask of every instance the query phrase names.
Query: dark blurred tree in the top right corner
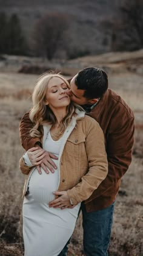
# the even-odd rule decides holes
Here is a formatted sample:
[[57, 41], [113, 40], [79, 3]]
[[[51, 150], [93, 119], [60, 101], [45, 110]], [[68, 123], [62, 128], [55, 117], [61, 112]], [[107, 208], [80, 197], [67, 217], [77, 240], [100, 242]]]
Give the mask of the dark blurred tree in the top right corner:
[[143, 1], [119, 1], [119, 15], [113, 24], [111, 49], [134, 51], [143, 47]]

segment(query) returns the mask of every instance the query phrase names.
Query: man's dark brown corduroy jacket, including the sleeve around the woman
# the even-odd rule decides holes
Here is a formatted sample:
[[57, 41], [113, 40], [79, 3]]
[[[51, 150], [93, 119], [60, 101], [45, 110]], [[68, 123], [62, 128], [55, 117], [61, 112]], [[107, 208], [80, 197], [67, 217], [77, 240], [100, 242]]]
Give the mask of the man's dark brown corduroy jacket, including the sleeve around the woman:
[[[121, 178], [131, 163], [134, 135], [134, 115], [125, 101], [108, 89], [98, 105], [90, 113], [100, 124], [106, 143], [108, 175], [97, 190], [85, 201], [87, 212], [101, 210], [111, 205], [119, 191]], [[22, 146], [32, 148], [39, 138], [31, 138], [32, 122], [28, 113], [21, 120], [20, 135]], [[93, 137], [94, 143], [94, 137]]]

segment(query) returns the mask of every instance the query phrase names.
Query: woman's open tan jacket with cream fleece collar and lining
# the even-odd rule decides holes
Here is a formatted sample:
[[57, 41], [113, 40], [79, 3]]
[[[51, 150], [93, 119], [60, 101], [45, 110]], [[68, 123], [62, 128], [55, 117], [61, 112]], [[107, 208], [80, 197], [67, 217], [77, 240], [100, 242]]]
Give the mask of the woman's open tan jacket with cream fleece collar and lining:
[[[74, 205], [88, 199], [108, 172], [102, 129], [93, 118], [84, 115], [84, 112], [79, 112], [65, 129], [58, 159], [58, 191], [67, 191]], [[43, 126], [42, 144], [45, 143], [50, 128], [50, 125]], [[30, 171], [32, 168], [25, 166], [23, 158], [20, 160], [20, 169], [24, 174], [30, 175], [35, 171], [35, 167]], [[27, 192], [30, 175], [25, 182], [24, 194]]]

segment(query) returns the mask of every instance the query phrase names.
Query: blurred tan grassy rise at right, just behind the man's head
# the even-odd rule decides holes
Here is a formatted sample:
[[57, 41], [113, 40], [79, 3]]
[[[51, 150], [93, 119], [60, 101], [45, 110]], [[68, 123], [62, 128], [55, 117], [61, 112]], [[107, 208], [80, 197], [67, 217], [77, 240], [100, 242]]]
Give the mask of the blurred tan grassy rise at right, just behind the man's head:
[[87, 66], [98, 66], [108, 73], [125, 71], [143, 74], [143, 49], [133, 52], [107, 52], [101, 55], [92, 55], [69, 60], [67, 66], [79, 65], [81, 68]]

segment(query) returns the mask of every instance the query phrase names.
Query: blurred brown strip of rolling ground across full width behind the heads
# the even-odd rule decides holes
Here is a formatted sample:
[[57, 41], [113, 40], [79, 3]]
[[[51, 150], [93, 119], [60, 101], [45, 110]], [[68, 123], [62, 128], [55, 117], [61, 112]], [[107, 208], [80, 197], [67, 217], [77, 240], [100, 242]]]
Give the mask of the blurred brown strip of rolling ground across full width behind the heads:
[[27, 57], [3, 54], [0, 56], [0, 72], [19, 72], [42, 74], [49, 69], [62, 72], [65, 76], [74, 76], [82, 68], [96, 66], [108, 74], [143, 74], [143, 49], [133, 52], [108, 52], [100, 55], [87, 55], [73, 60], [53, 59], [48, 61], [40, 57]]

